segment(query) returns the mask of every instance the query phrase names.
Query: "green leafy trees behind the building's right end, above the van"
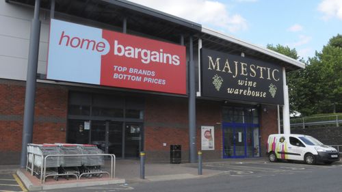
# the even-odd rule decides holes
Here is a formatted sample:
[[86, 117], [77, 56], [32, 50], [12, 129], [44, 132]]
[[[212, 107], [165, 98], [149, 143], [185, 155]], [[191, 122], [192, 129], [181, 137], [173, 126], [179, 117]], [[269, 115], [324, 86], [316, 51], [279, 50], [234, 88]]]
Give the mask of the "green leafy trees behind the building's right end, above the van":
[[[288, 46], [268, 44], [267, 48], [298, 59], [297, 51]], [[287, 73], [290, 111], [302, 115], [342, 112], [342, 35], [332, 37], [304, 63], [305, 69]]]

